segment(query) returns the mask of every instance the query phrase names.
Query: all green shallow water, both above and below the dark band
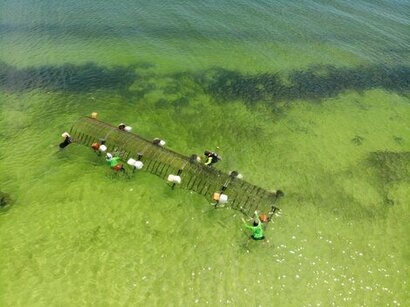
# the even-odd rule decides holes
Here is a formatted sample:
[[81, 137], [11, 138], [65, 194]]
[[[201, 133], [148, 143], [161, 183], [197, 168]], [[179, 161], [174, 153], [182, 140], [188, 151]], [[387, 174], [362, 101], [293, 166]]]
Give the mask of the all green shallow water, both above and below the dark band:
[[[331, 40], [16, 32], [0, 35], [4, 63], [135, 65], [130, 91], [145, 92], [0, 90], [0, 190], [13, 200], [0, 211], [1, 306], [408, 304], [408, 96], [375, 88], [249, 105], [195, 81], [213, 67], [372, 65], [367, 54]], [[248, 239], [241, 213], [154, 175], [116, 175], [82, 145], [59, 151], [61, 133], [91, 112], [187, 156], [218, 148], [218, 169], [283, 190], [266, 239]]]

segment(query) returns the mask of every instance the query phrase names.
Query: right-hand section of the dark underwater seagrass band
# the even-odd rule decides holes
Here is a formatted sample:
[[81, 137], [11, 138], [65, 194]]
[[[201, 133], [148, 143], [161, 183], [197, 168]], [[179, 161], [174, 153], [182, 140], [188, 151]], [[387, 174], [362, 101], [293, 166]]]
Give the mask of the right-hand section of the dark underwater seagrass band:
[[205, 90], [218, 100], [321, 100], [347, 91], [381, 88], [401, 95], [410, 93], [410, 67], [385, 65], [337, 68], [316, 66], [290, 72], [287, 76], [262, 73], [244, 75], [214, 68], [197, 78]]

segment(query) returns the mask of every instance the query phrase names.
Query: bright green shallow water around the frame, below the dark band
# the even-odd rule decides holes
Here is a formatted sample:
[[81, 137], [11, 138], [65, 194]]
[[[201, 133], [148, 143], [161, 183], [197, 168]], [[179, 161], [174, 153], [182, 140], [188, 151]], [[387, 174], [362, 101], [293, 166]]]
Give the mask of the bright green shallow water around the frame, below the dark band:
[[[143, 172], [114, 176], [81, 145], [58, 152], [59, 133], [97, 105], [71, 106], [75, 112], [66, 114], [52, 104], [38, 107], [44, 94], [2, 98], [13, 102], [2, 112], [6, 139], [13, 139], [11, 146], [1, 144], [2, 189], [16, 198], [1, 216], [4, 305], [386, 305], [407, 299], [408, 181], [381, 187], [363, 162], [370, 151], [408, 151], [408, 142], [394, 141], [408, 135], [404, 98], [372, 91], [320, 105], [300, 102], [277, 121], [266, 110], [240, 106], [191, 114], [184, 127], [196, 138], [186, 133], [178, 143], [182, 153], [192, 152], [190, 142], [198, 150], [219, 145], [228, 166], [250, 182], [285, 191], [264, 242], [247, 239], [239, 213], [215, 210], [199, 195], [171, 190]], [[35, 110], [29, 115], [18, 106], [25, 99], [22, 105]], [[58, 99], [64, 101], [58, 95], [51, 101]], [[182, 129], [172, 110], [153, 113], [156, 121], [128, 115], [132, 107], [123, 110], [136, 131], [161, 130], [172, 140]], [[48, 122], [38, 121], [50, 113]], [[216, 123], [221, 113], [224, 124], [214, 130], [197, 124]], [[100, 116], [111, 119], [108, 110]], [[158, 122], [167, 128], [156, 128]], [[257, 125], [258, 134], [245, 128], [229, 137], [235, 125]], [[351, 142], [356, 135], [364, 138], [360, 146]], [[383, 203], [383, 193], [393, 206]]]

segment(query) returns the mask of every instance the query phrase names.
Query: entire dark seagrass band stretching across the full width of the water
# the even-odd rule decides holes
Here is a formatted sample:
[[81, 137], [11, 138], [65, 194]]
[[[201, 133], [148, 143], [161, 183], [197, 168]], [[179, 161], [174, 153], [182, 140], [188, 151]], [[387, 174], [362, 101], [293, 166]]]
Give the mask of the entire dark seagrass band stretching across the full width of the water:
[[[156, 79], [171, 78], [172, 84], [167, 84], [163, 89], [165, 95], [184, 93], [186, 81], [191, 80], [190, 86], [194, 84], [197, 93], [198, 90], [202, 91], [218, 102], [242, 100], [247, 104], [298, 99], [320, 101], [348, 90], [363, 92], [375, 88], [400, 95], [410, 93], [409, 66], [374, 65], [346, 68], [327, 65], [290, 71], [287, 74], [243, 74], [220, 67], [171, 75], [143, 74], [140, 71], [152, 67], [152, 63], [112, 68], [87, 63], [18, 69], [0, 62], [0, 88], [7, 91], [40, 88], [80, 93], [107, 89], [119, 90], [129, 97], [142, 98], [156, 90], [156, 86], [153, 86]], [[186, 101], [178, 103], [186, 105]], [[163, 101], [159, 104], [163, 104]]]

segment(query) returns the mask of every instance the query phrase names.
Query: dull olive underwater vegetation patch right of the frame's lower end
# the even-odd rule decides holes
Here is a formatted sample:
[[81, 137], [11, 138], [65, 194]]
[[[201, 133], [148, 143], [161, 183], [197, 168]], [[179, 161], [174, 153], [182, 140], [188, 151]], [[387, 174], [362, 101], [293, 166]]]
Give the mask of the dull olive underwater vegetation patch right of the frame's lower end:
[[[410, 152], [374, 151], [369, 152], [360, 165], [352, 166], [341, 174], [335, 175], [325, 169], [317, 169], [321, 174], [316, 176], [316, 186], [327, 186], [327, 189], [311, 189], [310, 195], [314, 205], [320, 210], [326, 210], [337, 217], [348, 221], [362, 219], [383, 219], [387, 214], [387, 207], [400, 204], [395, 198], [395, 185], [410, 183]], [[360, 178], [366, 174], [366, 182], [375, 188], [377, 200], [363, 202], [358, 198], [354, 189], [344, 188], [340, 178]], [[339, 176], [340, 175], [340, 176]], [[290, 198], [300, 204], [306, 202], [306, 196], [298, 191], [290, 192]]]

